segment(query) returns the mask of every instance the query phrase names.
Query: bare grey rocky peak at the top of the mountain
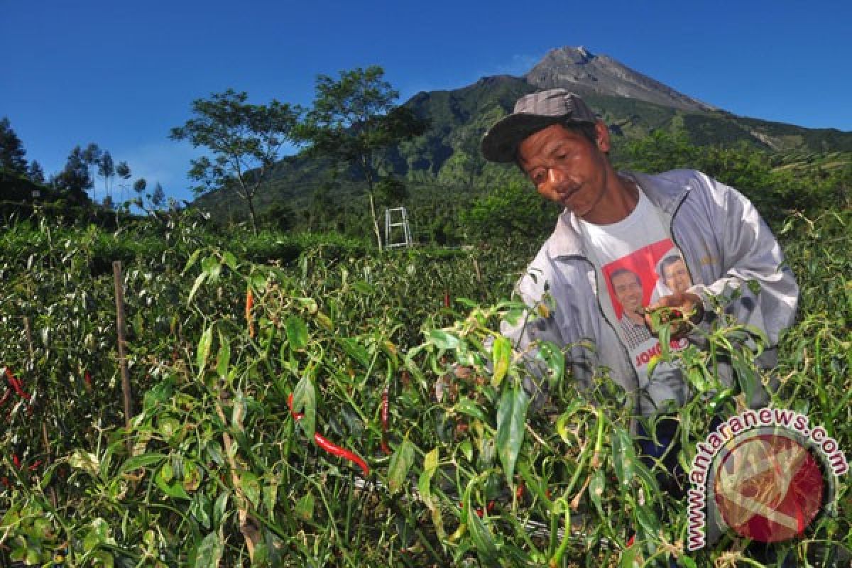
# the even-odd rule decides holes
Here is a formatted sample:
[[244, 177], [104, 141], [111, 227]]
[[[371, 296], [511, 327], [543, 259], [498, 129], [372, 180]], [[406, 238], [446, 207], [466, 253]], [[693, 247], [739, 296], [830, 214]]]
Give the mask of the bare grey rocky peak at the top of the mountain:
[[561, 87], [579, 95], [630, 97], [685, 111], [716, 110], [584, 46], [551, 49], [524, 78], [538, 89]]

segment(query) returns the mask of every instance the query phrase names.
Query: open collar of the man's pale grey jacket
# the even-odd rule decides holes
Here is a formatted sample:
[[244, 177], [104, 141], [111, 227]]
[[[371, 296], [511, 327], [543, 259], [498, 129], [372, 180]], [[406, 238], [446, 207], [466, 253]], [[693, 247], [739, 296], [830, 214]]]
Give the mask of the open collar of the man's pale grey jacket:
[[[635, 181], [642, 192], [648, 196], [651, 203], [663, 214], [665, 220], [671, 222], [671, 217], [674, 215], [677, 206], [692, 189], [692, 185], [690, 182], [684, 182], [682, 176], [668, 175], [669, 173], [648, 175], [641, 172], [624, 171], [619, 172], [619, 175]], [[588, 257], [584, 249], [577, 215], [567, 209], [562, 211], [559, 220], [556, 221], [556, 229], [548, 239], [548, 252], [551, 258], [559, 256]]]

